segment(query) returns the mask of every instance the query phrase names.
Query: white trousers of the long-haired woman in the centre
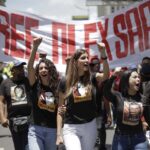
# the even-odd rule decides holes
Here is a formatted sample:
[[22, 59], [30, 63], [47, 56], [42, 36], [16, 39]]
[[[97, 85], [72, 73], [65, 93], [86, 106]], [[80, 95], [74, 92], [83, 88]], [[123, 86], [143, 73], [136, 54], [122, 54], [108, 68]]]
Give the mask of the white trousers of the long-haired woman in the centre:
[[83, 124], [64, 124], [66, 150], [93, 150], [97, 136], [96, 119]]

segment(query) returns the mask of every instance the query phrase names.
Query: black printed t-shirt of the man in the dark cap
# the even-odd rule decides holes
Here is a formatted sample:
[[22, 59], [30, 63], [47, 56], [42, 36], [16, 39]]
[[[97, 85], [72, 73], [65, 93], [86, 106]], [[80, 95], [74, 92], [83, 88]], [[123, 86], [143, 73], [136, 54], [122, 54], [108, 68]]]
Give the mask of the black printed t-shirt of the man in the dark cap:
[[3, 80], [0, 95], [7, 102], [8, 118], [30, 115], [29, 103], [30, 86], [27, 78], [14, 81], [12, 78]]

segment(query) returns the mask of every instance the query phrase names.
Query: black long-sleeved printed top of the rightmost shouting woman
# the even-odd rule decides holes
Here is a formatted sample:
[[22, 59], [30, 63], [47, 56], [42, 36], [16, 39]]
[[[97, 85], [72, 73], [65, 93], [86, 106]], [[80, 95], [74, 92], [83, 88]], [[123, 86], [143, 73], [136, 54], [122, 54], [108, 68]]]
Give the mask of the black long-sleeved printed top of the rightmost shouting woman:
[[110, 78], [104, 87], [104, 96], [111, 101], [116, 109], [117, 129], [123, 133], [143, 132], [141, 116], [143, 114], [142, 96], [137, 93], [123, 97], [120, 92], [111, 92], [115, 78]]

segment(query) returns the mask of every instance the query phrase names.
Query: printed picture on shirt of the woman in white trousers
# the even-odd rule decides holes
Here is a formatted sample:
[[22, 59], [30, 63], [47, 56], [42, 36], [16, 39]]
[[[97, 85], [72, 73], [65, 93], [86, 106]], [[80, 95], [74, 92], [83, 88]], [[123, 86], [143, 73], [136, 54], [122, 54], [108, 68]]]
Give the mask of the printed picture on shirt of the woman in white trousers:
[[90, 101], [92, 100], [92, 92], [87, 86], [78, 83], [77, 86], [73, 88], [74, 103]]

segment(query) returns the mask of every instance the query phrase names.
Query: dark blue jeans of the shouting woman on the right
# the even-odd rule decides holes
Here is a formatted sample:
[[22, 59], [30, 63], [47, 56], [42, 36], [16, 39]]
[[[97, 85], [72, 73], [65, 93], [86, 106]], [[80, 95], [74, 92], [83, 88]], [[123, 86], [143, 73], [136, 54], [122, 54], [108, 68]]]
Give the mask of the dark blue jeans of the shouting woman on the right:
[[148, 150], [148, 144], [144, 133], [134, 135], [115, 133], [112, 150]]

